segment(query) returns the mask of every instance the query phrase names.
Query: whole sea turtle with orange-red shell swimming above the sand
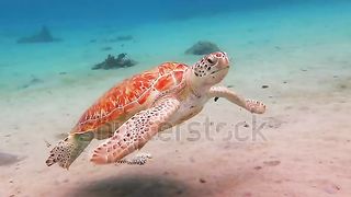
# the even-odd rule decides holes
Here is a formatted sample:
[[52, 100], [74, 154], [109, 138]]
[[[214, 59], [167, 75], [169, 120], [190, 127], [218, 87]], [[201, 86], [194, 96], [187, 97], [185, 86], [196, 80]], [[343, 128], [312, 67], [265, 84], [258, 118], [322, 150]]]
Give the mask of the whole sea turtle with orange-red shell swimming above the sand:
[[216, 85], [228, 70], [226, 53], [217, 51], [191, 67], [165, 62], [124, 80], [88, 108], [69, 136], [50, 151], [46, 164], [68, 169], [94, 138], [107, 140], [93, 151], [91, 162], [143, 164], [149, 155], [132, 161], [124, 158], [141, 149], [157, 132], [199, 114], [214, 97], [225, 97], [251, 113], [264, 113], [261, 102], [245, 100]]

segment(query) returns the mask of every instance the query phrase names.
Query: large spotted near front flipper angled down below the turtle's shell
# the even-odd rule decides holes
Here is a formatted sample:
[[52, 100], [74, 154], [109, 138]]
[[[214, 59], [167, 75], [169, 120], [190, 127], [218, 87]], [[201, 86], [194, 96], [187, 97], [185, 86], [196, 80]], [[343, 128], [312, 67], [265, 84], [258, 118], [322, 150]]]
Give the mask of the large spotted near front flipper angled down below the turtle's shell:
[[165, 124], [169, 124], [171, 115], [179, 106], [180, 102], [177, 99], [167, 97], [155, 106], [135, 114], [114, 132], [113, 137], [93, 151], [91, 161], [95, 164], [115, 163], [140, 149]]

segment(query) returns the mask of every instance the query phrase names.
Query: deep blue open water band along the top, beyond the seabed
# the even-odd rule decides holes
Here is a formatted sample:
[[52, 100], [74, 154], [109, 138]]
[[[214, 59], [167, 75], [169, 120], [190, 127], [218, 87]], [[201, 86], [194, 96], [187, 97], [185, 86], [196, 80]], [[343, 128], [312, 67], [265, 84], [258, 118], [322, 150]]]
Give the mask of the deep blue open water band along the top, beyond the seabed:
[[[224, 12], [247, 12], [313, 4], [315, 7], [348, 2], [347, 0], [192, 0], [192, 1], [116, 1], [116, 0], [13, 0], [0, 2], [2, 24], [43, 24], [64, 22], [113, 22], [115, 25], [137, 25], [145, 22], [208, 16]], [[77, 23], [76, 25], [79, 25]]]

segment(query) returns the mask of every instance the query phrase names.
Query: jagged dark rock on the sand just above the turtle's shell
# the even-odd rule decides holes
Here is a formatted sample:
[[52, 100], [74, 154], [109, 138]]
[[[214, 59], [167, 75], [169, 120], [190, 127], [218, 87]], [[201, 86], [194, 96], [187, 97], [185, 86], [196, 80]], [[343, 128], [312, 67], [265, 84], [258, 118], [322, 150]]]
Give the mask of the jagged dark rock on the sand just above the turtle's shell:
[[120, 54], [117, 56], [117, 58], [115, 58], [112, 55], [109, 55], [107, 58], [103, 62], [93, 66], [91, 69], [92, 70], [97, 70], [97, 69], [107, 70], [107, 69], [116, 69], [116, 68], [126, 68], [126, 67], [133, 67], [136, 63], [137, 63], [136, 61], [134, 61], [127, 57], [127, 54]]

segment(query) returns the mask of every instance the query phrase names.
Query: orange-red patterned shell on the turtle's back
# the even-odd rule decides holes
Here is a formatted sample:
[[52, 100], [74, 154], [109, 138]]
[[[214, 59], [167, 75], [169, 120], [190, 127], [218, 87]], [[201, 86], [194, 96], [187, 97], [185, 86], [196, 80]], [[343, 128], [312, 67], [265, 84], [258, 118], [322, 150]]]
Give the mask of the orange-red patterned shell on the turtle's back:
[[[138, 111], [148, 107], [160, 93], [184, 84], [186, 65], [165, 62], [149, 71], [136, 74], [110, 89], [80, 117], [72, 134], [97, 131], [110, 123], [123, 124]], [[113, 128], [109, 132], [113, 132]]]

